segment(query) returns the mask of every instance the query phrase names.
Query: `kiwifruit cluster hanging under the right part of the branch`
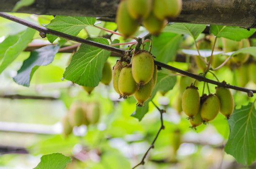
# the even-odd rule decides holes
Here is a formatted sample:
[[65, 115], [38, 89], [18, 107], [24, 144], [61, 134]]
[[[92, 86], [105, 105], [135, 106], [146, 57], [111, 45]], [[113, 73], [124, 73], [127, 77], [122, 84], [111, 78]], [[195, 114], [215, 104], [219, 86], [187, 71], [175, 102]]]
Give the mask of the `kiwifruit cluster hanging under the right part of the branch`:
[[228, 88], [217, 86], [215, 94], [200, 97], [198, 88], [191, 84], [184, 91], [182, 108], [195, 129], [202, 123], [214, 120], [219, 112], [229, 119], [234, 110], [234, 100]]

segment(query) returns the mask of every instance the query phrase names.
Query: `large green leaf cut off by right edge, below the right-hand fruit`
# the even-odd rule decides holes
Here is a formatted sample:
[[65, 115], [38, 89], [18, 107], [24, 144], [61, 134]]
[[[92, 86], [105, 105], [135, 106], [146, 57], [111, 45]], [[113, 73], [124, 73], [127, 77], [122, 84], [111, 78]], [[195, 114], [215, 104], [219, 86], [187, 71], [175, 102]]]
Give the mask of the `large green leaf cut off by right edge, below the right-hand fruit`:
[[225, 152], [237, 162], [250, 165], [256, 160], [256, 109], [252, 103], [235, 109], [228, 120], [230, 135]]

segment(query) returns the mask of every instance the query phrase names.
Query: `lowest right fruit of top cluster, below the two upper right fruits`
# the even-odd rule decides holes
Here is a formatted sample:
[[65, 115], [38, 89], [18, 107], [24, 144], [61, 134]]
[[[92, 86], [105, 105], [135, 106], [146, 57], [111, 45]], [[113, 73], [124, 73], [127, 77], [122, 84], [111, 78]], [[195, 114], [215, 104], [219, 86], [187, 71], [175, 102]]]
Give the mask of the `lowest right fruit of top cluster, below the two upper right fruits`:
[[165, 20], [159, 19], [151, 12], [143, 21], [143, 26], [152, 34], [159, 35], [165, 26]]

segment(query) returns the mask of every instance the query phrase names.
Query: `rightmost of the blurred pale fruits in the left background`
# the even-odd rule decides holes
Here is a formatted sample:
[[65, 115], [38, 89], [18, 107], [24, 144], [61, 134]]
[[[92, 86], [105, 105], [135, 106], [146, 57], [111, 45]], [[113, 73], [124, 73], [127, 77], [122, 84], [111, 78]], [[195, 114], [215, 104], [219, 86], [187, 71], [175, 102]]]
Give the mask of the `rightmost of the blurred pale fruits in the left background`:
[[87, 105], [86, 117], [90, 124], [95, 124], [100, 118], [100, 105], [96, 102], [89, 103]]

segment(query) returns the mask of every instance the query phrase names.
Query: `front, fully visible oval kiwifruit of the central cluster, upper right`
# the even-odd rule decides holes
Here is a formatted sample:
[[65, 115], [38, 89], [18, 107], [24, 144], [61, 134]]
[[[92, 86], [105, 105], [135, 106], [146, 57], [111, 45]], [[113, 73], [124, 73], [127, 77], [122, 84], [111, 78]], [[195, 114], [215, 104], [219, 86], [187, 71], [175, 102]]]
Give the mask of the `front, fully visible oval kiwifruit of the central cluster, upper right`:
[[145, 50], [134, 52], [132, 58], [132, 76], [141, 86], [147, 84], [154, 74], [154, 59], [152, 54]]

